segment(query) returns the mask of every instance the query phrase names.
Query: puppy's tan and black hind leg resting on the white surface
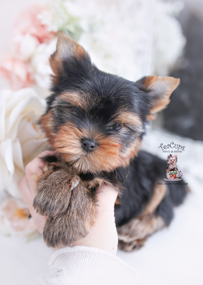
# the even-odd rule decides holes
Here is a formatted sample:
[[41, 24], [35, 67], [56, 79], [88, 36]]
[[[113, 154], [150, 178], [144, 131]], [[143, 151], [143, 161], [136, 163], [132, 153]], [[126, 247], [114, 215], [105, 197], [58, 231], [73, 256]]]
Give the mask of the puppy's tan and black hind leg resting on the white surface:
[[169, 225], [172, 219], [173, 205], [166, 186], [158, 185], [141, 215], [118, 228], [120, 247], [125, 251], [139, 249], [150, 235]]

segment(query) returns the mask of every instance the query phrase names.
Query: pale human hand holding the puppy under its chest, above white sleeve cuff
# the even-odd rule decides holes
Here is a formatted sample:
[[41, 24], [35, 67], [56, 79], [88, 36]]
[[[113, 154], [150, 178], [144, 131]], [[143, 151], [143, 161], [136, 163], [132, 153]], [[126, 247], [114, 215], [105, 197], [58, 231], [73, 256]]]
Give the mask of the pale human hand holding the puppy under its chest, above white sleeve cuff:
[[[46, 216], [42, 216], [32, 207], [33, 199], [36, 195], [34, 180], [32, 173], [38, 171], [45, 163], [40, 157], [44, 155], [54, 155], [54, 152], [46, 151], [32, 160], [25, 168], [26, 176], [18, 183], [19, 190], [23, 200], [28, 205], [30, 214], [34, 219], [35, 225], [43, 233], [43, 228], [47, 220]], [[118, 193], [110, 186], [104, 185], [96, 191], [98, 198], [98, 216], [88, 235], [76, 241], [75, 245], [87, 247], [96, 247], [113, 254], [117, 252], [118, 235], [115, 226], [114, 204]]]

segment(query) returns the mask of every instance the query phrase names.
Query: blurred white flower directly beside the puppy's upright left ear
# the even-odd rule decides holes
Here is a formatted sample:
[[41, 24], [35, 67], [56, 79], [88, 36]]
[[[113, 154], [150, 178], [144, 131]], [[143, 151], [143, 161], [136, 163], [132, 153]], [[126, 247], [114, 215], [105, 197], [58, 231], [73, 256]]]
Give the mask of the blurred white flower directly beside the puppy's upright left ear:
[[51, 74], [53, 72], [49, 64], [49, 57], [55, 52], [56, 43], [57, 38], [54, 38], [48, 44], [39, 44], [30, 61], [33, 78], [36, 84], [44, 89], [49, 89], [51, 86]]

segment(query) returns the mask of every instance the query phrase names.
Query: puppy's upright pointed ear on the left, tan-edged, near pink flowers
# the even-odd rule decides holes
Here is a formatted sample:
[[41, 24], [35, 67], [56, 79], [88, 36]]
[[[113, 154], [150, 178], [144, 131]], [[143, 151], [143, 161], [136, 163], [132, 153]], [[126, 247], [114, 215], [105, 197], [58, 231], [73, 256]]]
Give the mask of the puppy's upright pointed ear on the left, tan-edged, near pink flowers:
[[88, 60], [90, 62], [90, 57], [84, 48], [64, 32], [60, 32], [56, 51], [49, 58], [49, 63], [55, 76], [60, 76], [64, 71], [64, 64], [73, 62], [74, 59], [78, 61]]

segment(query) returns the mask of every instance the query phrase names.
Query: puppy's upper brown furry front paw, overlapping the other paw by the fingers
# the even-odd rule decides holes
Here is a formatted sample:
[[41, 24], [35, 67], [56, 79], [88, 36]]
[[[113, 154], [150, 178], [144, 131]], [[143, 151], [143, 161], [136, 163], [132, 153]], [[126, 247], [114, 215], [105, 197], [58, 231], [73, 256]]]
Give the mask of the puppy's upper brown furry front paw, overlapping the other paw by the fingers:
[[52, 172], [36, 185], [34, 209], [41, 215], [54, 217], [67, 211], [71, 198], [71, 190], [79, 183], [79, 177], [70, 177], [67, 170]]

